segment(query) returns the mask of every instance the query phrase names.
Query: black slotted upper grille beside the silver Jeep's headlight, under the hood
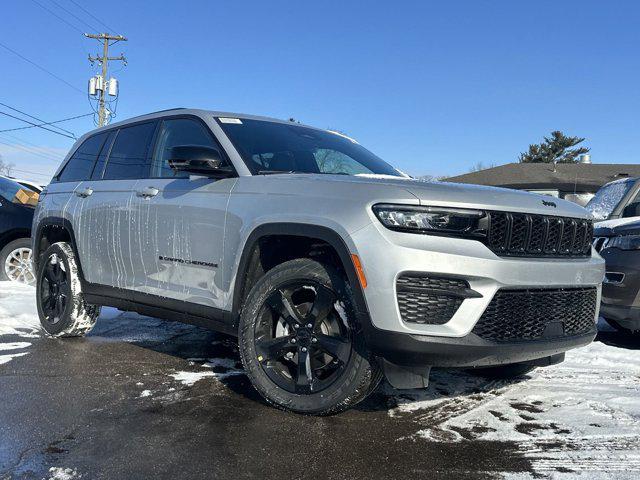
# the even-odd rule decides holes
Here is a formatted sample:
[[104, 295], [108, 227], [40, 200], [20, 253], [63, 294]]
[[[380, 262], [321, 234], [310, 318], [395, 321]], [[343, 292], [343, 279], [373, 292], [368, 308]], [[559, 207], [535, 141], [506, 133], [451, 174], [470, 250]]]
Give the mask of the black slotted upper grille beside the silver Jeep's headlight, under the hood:
[[588, 257], [593, 239], [590, 220], [488, 212], [487, 245], [501, 256]]

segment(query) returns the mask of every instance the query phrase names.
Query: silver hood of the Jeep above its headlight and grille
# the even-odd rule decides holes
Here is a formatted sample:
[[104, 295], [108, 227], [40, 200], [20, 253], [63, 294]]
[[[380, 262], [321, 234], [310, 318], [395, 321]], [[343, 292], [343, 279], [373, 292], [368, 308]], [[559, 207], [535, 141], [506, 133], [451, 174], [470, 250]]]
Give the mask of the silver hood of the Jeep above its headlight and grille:
[[[292, 175], [295, 177], [297, 175]], [[318, 180], [347, 182], [354, 185], [390, 185], [407, 190], [418, 198], [421, 205], [441, 207], [477, 208], [510, 212], [558, 215], [574, 218], [590, 218], [589, 212], [581, 206], [555, 197], [512, 190], [509, 188], [486, 187], [463, 183], [423, 182], [411, 178], [386, 175], [314, 175]]]

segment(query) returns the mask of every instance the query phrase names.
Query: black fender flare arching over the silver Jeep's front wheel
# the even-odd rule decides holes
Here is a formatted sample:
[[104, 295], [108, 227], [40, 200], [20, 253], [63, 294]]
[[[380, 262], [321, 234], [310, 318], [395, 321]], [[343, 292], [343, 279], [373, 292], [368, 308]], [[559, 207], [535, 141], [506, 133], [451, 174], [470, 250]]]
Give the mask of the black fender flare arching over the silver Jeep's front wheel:
[[247, 237], [247, 241], [244, 243], [242, 249], [242, 255], [240, 256], [240, 263], [238, 264], [238, 270], [236, 271], [233, 287], [233, 318], [237, 319], [240, 313], [240, 306], [242, 305], [243, 300], [241, 298], [242, 282], [244, 281], [244, 277], [247, 273], [247, 267], [251, 260], [251, 252], [253, 252], [260, 238], [268, 235], [292, 235], [297, 237], [316, 238], [328, 243], [338, 253], [340, 261], [344, 266], [347, 279], [353, 289], [356, 314], [358, 315], [360, 322], [363, 323], [364, 320], [365, 323], [370, 323], [364, 292], [353, 265], [353, 260], [351, 259], [351, 252], [340, 234], [331, 228], [320, 225], [288, 222], [265, 223], [259, 225]]

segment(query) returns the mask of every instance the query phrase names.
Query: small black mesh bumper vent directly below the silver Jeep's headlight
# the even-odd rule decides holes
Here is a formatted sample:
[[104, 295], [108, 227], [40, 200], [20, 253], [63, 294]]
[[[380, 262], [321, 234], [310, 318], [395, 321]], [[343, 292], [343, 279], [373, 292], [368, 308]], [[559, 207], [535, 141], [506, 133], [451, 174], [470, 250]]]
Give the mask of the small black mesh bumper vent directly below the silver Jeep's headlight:
[[402, 274], [396, 286], [402, 320], [425, 325], [451, 320], [469, 288], [464, 280], [424, 274]]

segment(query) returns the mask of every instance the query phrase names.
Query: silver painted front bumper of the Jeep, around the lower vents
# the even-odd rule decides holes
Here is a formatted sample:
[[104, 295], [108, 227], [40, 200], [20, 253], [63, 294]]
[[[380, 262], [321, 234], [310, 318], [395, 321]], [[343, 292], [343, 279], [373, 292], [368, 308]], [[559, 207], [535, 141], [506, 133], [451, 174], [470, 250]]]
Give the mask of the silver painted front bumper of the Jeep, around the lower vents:
[[[368, 281], [364, 296], [372, 326], [386, 333], [427, 339], [417, 345], [439, 338], [467, 338], [499, 289], [596, 287], [600, 303], [604, 261], [595, 252], [585, 259], [504, 258], [478, 241], [394, 232], [379, 222], [352, 233], [351, 238]], [[464, 299], [442, 325], [405, 322], [396, 291], [397, 278], [403, 272], [464, 279], [480, 295]], [[595, 313], [594, 325], [597, 308]], [[488, 347], [472, 340], [469, 345]], [[497, 348], [506, 346], [500, 344]], [[568, 348], [572, 347], [565, 350]]]

